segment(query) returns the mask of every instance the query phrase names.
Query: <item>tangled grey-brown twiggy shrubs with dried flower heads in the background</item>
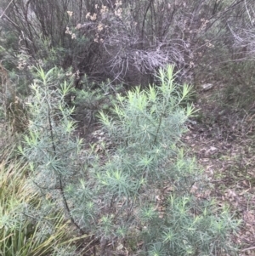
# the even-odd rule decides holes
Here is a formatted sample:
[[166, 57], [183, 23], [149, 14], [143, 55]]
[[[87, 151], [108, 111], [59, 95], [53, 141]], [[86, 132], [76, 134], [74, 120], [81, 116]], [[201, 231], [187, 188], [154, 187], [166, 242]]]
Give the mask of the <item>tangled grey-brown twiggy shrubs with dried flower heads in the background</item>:
[[9, 68], [71, 67], [77, 87], [84, 74], [147, 85], [169, 63], [192, 81], [212, 63], [252, 53], [252, 17], [252, 1], [12, 1], [1, 48]]

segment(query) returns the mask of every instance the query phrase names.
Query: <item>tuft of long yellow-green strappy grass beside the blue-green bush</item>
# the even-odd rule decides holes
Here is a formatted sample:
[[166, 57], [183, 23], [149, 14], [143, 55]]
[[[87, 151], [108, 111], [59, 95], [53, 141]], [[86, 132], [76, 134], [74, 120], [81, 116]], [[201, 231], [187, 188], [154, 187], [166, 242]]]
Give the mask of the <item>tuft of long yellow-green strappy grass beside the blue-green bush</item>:
[[[69, 225], [61, 212], [43, 218], [27, 216], [25, 208], [40, 207], [41, 199], [26, 187], [27, 164], [12, 158], [0, 162], [0, 255], [60, 255], [84, 237], [68, 236]], [[50, 229], [45, 229], [45, 223]], [[69, 233], [70, 234], [70, 233]], [[62, 254], [61, 254], [62, 255]], [[67, 255], [67, 254], [66, 254]]]

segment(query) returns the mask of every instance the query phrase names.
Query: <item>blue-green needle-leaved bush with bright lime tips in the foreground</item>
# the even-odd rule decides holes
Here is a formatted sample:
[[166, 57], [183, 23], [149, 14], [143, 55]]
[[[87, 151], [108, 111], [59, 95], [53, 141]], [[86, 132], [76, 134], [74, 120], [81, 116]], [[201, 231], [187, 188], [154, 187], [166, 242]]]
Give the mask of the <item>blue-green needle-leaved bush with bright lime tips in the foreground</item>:
[[140, 255], [234, 253], [229, 234], [238, 222], [190, 192], [201, 171], [178, 142], [194, 109], [180, 106], [191, 88], [174, 83], [173, 67], [159, 71], [159, 86], [118, 95], [110, 116], [100, 112], [112, 145], [103, 156], [73, 137], [74, 110], [65, 104], [71, 87], [53, 81], [53, 71], [37, 68], [29, 132], [19, 147], [44, 203], [51, 198], [50, 208], [64, 209], [81, 233], [94, 235], [100, 255], [134, 238]]

